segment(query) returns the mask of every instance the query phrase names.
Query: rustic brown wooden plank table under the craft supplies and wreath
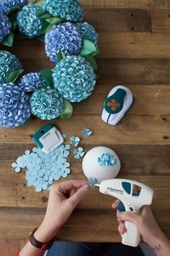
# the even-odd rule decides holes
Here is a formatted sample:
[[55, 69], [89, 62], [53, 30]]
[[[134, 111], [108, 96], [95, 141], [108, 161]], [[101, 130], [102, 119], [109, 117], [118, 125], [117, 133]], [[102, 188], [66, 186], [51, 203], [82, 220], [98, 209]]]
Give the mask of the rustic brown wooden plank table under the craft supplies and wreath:
[[[73, 105], [71, 119], [53, 122], [66, 133], [81, 135], [88, 127], [93, 135], [81, 140], [87, 151], [105, 145], [120, 156], [121, 178], [151, 186], [157, 195], [153, 213], [170, 238], [170, 4], [169, 0], [81, 0], [85, 19], [99, 32], [97, 57], [100, 79], [86, 105]], [[2, 47], [1, 47], [2, 49]], [[15, 41], [13, 48], [26, 72], [53, 67], [37, 40]], [[133, 91], [135, 105], [115, 127], [100, 116], [104, 99], [115, 85]], [[27, 187], [24, 173], [14, 173], [11, 164], [34, 145], [32, 135], [46, 124], [32, 118], [27, 128], [0, 128], [0, 238], [27, 239], [40, 224], [48, 192]], [[68, 142], [68, 140], [67, 140]], [[81, 161], [71, 155], [68, 179], [85, 179]], [[79, 204], [58, 234], [60, 239], [89, 242], [120, 242], [113, 198], [93, 190]]]

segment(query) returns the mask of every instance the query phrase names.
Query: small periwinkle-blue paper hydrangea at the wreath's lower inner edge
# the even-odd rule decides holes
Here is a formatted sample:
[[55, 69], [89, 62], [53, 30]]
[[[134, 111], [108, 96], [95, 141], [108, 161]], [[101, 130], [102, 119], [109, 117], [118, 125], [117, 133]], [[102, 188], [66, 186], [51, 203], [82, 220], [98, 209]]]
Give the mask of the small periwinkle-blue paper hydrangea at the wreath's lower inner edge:
[[40, 72], [31, 72], [29, 74], [25, 74], [20, 78], [18, 84], [26, 93], [32, 92], [33, 90], [37, 90], [41, 86], [46, 85]]

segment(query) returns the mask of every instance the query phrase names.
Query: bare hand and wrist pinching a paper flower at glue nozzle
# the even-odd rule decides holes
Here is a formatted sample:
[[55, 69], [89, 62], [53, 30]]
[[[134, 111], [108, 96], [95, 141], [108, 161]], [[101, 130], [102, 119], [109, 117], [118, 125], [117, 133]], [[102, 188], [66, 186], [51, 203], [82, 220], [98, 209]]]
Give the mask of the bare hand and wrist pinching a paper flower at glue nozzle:
[[87, 182], [79, 180], [52, 185], [45, 218], [35, 232], [35, 238], [40, 242], [48, 242], [53, 239], [89, 189], [90, 186]]

